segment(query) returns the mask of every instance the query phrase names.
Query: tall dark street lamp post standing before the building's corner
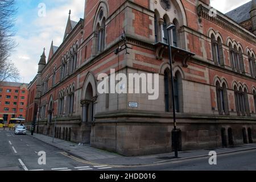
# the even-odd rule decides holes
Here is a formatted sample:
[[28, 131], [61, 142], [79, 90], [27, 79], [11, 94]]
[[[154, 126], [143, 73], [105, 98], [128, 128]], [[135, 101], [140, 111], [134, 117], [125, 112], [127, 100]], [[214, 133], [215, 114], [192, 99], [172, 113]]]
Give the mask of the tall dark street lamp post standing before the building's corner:
[[171, 47], [171, 40], [170, 40], [170, 35], [171, 31], [175, 28], [175, 24], [171, 24], [170, 26], [167, 27], [168, 31], [168, 52], [169, 52], [169, 61], [170, 61], [170, 72], [171, 72], [171, 89], [172, 89], [172, 109], [174, 113], [174, 151], [175, 151], [175, 158], [178, 157], [178, 149], [177, 149], [177, 125], [176, 125], [176, 108], [175, 108], [175, 96], [174, 96], [174, 75], [173, 75], [173, 70], [172, 70], [172, 47]]

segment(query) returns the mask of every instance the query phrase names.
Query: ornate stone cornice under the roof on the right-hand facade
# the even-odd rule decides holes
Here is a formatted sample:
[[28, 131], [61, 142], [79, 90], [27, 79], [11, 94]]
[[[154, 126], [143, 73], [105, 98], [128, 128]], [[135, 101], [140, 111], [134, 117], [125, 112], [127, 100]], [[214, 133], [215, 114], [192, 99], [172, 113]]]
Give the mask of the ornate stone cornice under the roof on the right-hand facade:
[[216, 16], [210, 16], [209, 9], [202, 4], [197, 7], [197, 15], [199, 16], [199, 19], [204, 18], [256, 46], [256, 36], [225, 15], [217, 13]]

